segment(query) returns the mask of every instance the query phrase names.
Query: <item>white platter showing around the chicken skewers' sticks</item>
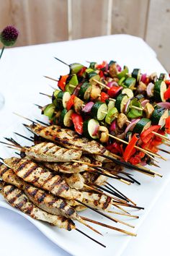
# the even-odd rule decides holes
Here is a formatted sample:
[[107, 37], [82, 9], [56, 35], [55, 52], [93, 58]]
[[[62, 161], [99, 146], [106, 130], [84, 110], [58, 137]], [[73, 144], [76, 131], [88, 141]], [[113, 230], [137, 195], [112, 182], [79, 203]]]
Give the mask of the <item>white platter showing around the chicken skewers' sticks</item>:
[[[33, 110], [32, 110], [33, 111]], [[32, 112], [30, 110], [30, 112]], [[33, 111], [35, 114], [35, 111]], [[32, 113], [30, 113], [32, 116]], [[14, 135], [12, 132], [19, 132], [22, 135], [30, 135], [30, 133], [22, 127], [22, 124], [17, 124], [15, 127], [11, 127], [8, 131], [5, 132], [5, 134], [2, 137], [13, 137], [17, 141], [19, 141], [22, 145], [28, 145], [30, 144], [27, 140], [22, 140], [21, 138], [17, 137], [17, 135]], [[12, 150], [9, 150], [5, 148], [4, 146], [1, 146], [1, 157], [9, 157], [12, 155]], [[161, 153], [161, 155], [164, 155]], [[167, 155], [164, 155], [167, 157]], [[104, 217], [99, 216], [97, 213], [91, 212], [91, 210], [85, 210], [81, 213], [82, 216], [87, 216], [88, 218], [94, 218], [97, 221], [102, 221], [104, 223], [108, 223], [109, 225], [119, 227], [121, 229], [127, 229], [129, 231], [140, 232], [139, 226], [143, 223], [144, 219], [148, 215], [149, 211], [153, 207], [154, 203], [158, 200], [158, 197], [161, 195], [161, 192], [163, 191], [164, 187], [170, 180], [170, 174], [168, 172], [168, 165], [169, 161], [160, 161], [159, 163], [161, 165], [161, 169], [156, 169], [156, 171], [160, 171], [161, 174], [164, 174], [163, 178], [151, 178], [149, 176], [146, 176], [144, 174], [140, 174], [136, 171], [133, 171], [135, 179], [138, 179], [138, 181], [141, 182], [141, 186], [138, 186], [137, 184], [132, 184], [130, 186], [126, 184], [122, 184], [121, 182], [117, 182], [115, 180], [110, 179], [109, 182], [111, 184], [114, 184], [117, 189], [120, 189], [125, 195], [130, 197], [135, 202], [138, 202], [138, 205], [145, 207], [145, 210], [130, 210], [127, 208], [127, 210], [130, 210], [130, 212], [133, 212], [135, 215], [139, 215], [139, 219], [132, 219], [128, 217], [122, 217], [121, 216], [115, 216], [115, 218], [119, 218], [122, 221], [127, 221], [128, 223], [131, 223], [135, 226], [135, 229], [130, 229], [127, 226], [120, 225], [117, 223], [114, 223], [112, 221], [107, 220]], [[55, 244], [58, 244], [59, 247], [65, 249], [67, 252], [70, 252], [71, 255], [121, 255], [121, 253], [124, 251], [125, 247], [127, 247], [128, 242], [130, 242], [130, 239], [133, 239], [135, 242], [135, 237], [131, 238], [130, 236], [126, 236], [125, 234], [121, 234], [117, 231], [113, 231], [110, 229], [104, 229], [101, 226], [97, 225], [91, 225], [97, 228], [99, 231], [102, 232], [104, 236], [99, 236], [95, 234], [93, 231], [89, 230], [88, 228], [82, 226], [81, 224], [76, 222], [76, 226], [81, 229], [82, 231], [86, 232], [86, 234], [89, 234], [90, 236], [93, 236], [94, 239], [99, 240], [99, 242], [102, 242], [107, 247], [103, 248], [100, 247], [98, 244], [95, 244], [91, 240], [87, 239], [85, 236], [79, 234], [77, 231], [65, 231], [58, 229], [56, 227], [48, 225], [48, 223], [42, 223], [41, 221], [35, 221], [34, 219], [30, 218], [29, 216], [25, 215], [24, 213], [21, 213], [19, 210], [16, 210], [12, 208], [10, 205], [8, 205], [3, 197], [0, 195], [0, 206], [4, 208], [8, 208], [10, 210], [13, 210], [16, 213], [21, 214], [24, 216], [24, 218], [27, 218], [29, 221], [31, 221], [37, 229], [40, 229], [45, 236], [48, 237], [51, 241], [53, 241]], [[88, 244], [88, 246], [86, 246]], [[83, 249], [85, 248], [85, 249]]]

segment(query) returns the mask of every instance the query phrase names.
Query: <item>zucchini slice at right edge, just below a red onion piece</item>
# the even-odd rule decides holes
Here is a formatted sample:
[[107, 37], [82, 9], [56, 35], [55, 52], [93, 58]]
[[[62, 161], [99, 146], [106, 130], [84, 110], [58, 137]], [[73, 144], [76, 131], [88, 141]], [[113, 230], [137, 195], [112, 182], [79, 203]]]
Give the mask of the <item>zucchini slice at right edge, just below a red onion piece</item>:
[[156, 108], [151, 116], [152, 124], [165, 125], [166, 118], [169, 117], [169, 110], [166, 108]]

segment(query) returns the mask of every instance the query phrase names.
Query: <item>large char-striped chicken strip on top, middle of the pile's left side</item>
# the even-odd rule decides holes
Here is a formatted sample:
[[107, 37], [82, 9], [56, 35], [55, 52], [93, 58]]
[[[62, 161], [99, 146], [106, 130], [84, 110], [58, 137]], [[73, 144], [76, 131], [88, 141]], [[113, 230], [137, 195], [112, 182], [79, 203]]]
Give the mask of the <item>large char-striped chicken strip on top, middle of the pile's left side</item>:
[[54, 175], [32, 162], [29, 158], [7, 158], [4, 159], [10, 168], [12, 168], [20, 178], [25, 182], [30, 182], [35, 187], [48, 190], [53, 195], [58, 195], [66, 199], [82, 200], [81, 192], [76, 189], [71, 189], [61, 176]]

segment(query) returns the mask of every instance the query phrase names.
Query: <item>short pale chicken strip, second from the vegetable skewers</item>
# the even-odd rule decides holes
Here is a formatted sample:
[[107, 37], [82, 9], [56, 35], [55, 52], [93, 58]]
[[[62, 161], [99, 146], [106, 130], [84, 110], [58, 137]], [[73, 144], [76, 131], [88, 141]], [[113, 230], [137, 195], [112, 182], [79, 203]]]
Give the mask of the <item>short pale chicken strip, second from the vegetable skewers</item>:
[[52, 142], [41, 142], [30, 148], [25, 148], [25, 155], [36, 161], [68, 162], [79, 160], [81, 150], [61, 148]]

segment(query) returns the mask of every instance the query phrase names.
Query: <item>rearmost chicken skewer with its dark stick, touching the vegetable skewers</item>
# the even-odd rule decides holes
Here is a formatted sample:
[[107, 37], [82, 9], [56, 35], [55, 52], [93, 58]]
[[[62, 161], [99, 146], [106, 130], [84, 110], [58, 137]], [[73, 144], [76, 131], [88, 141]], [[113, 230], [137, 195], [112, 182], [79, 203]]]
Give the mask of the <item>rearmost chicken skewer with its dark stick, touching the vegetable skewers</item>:
[[24, 127], [27, 127], [27, 129], [29, 129], [34, 134], [39, 135], [40, 137], [43, 137], [47, 140], [57, 142], [66, 148], [82, 150], [84, 153], [92, 154], [93, 157], [97, 159], [97, 161], [103, 162], [107, 159], [107, 161], [113, 161], [120, 166], [145, 172], [144, 168], [133, 166], [130, 163], [126, 163], [124, 161], [113, 158], [112, 154], [110, 154], [103, 145], [99, 144], [99, 142], [95, 140], [90, 141], [85, 137], [79, 137], [79, 135], [77, 135], [76, 132], [72, 131], [71, 129], [61, 128], [57, 125], [44, 127], [41, 124], [35, 122], [33, 122], [31, 125], [24, 124]]

